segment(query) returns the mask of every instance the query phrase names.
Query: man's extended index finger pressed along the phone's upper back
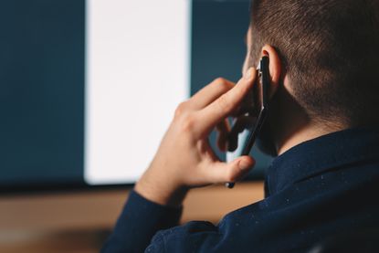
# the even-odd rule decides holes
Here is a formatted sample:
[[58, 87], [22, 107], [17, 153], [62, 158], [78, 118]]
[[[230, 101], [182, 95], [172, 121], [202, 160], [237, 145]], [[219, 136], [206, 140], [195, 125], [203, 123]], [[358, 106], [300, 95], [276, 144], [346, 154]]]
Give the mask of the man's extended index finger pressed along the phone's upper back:
[[237, 85], [209, 104], [205, 109], [198, 111], [198, 117], [202, 119], [196, 125], [196, 131], [209, 132], [216, 124], [224, 120], [231, 112], [236, 110], [248, 91], [253, 87], [257, 78], [257, 71], [250, 68], [247, 75], [239, 79]]

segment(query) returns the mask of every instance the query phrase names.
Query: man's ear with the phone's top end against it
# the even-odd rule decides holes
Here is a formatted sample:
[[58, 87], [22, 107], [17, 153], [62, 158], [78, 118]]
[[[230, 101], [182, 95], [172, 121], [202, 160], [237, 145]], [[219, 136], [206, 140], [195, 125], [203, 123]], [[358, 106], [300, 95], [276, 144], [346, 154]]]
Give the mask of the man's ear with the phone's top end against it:
[[267, 56], [269, 59], [269, 76], [270, 76], [270, 83], [271, 83], [271, 90], [272, 93], [275, 93], [276, 90], [278, 90], [279, 87], [279, 80], [280, 80], [280, 74], [281, 74], [281, 61], [279, 58], [279, 54], [277, 50], [270, 46], [265, 45], [262, 47], [261, 51], [261, 57]]

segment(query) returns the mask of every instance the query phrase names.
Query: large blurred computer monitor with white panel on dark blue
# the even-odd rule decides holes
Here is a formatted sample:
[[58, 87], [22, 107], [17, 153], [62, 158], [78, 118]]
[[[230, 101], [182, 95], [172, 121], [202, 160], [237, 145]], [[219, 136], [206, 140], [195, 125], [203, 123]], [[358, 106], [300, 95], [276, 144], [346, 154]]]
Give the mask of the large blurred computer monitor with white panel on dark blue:
[[0, 189], [135, 183], [177, 104], [240, 77], [248, 5], [2, 1]]

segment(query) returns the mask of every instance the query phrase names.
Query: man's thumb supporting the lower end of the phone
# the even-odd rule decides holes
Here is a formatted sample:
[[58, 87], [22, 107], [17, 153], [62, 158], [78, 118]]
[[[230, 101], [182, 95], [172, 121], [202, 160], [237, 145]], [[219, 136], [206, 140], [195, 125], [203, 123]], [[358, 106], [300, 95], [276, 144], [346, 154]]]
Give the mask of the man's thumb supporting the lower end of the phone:
[[248, 155], [230, 163], [213, 162], [205, 169], [205, 178], [210, 184], [236, 182], [246, 176], [254, 164], [255, 160]]

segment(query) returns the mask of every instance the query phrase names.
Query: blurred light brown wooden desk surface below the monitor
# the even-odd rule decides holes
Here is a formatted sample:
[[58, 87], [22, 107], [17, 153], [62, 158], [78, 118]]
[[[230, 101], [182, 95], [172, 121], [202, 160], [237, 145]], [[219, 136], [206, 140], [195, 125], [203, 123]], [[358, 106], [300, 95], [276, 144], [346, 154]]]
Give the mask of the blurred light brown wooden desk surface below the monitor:
[[[0, 197], [0, 252], [98, 252], [125, 203], [128, 190]], [[192, 190], [182, 222], [217, 222], [263, 198], [263, 183]]]

